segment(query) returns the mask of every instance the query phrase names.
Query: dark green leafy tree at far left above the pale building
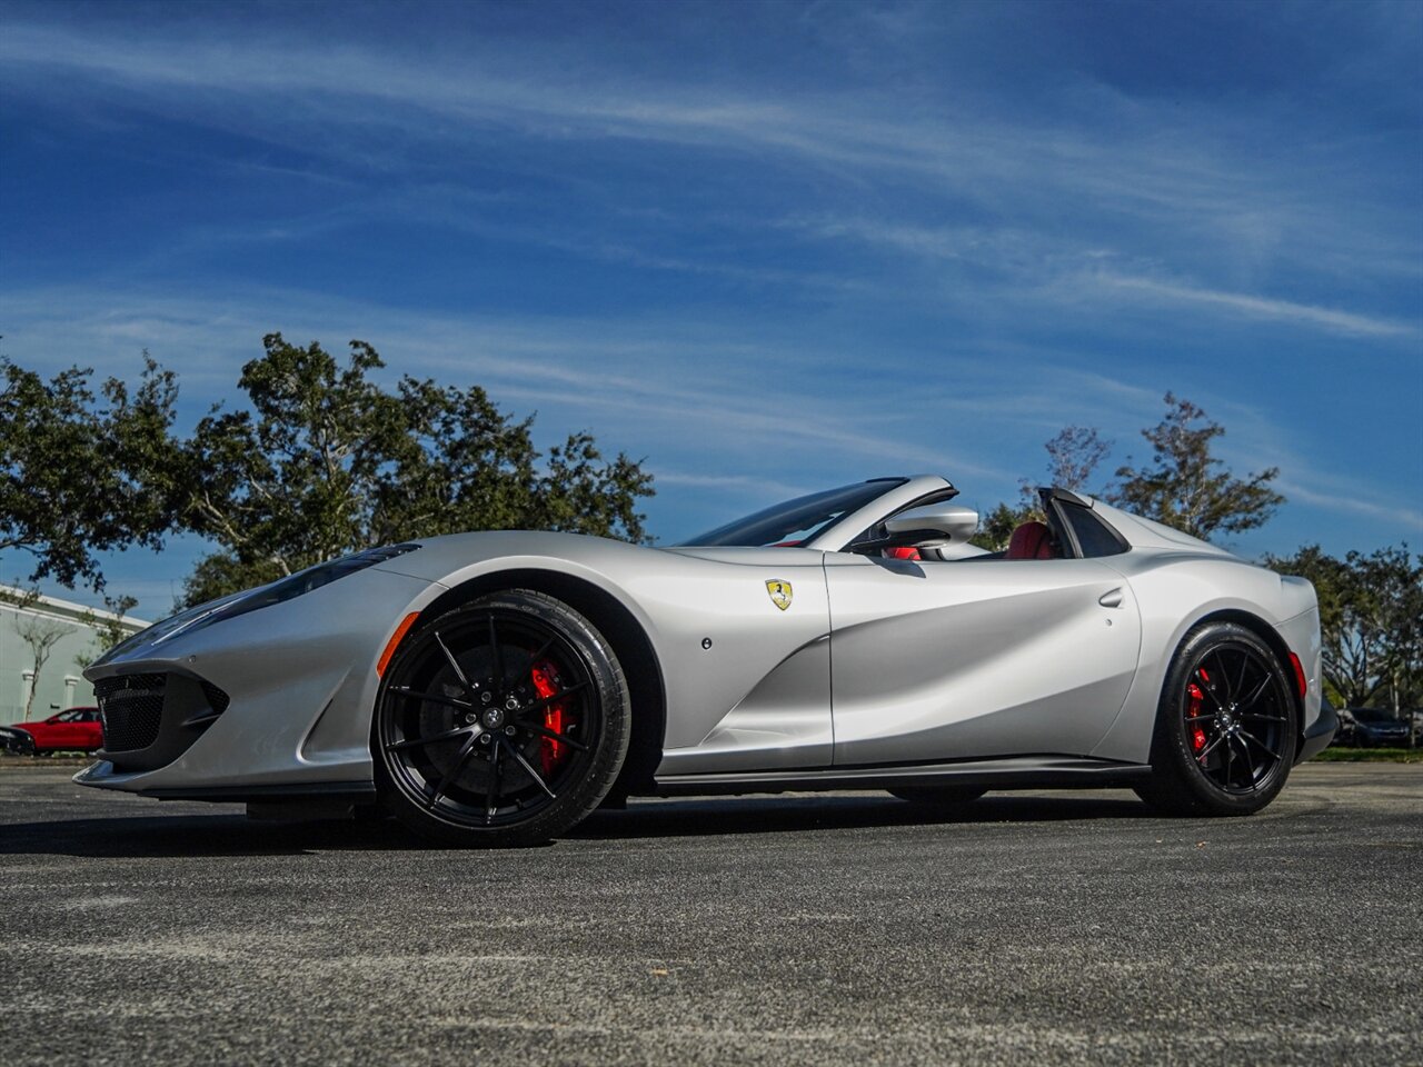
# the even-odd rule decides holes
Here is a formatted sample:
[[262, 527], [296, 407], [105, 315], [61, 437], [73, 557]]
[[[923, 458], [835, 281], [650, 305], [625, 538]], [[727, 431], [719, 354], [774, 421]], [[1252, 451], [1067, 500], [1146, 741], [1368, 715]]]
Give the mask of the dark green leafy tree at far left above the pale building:
[[46, 381], [0, 357], [0, 552], [34, 559], [30, 580], [102, 589], [95, 552], [158, 548], [172, 525], [178, 386], [144, 354], [132, 393], [71, 367]]

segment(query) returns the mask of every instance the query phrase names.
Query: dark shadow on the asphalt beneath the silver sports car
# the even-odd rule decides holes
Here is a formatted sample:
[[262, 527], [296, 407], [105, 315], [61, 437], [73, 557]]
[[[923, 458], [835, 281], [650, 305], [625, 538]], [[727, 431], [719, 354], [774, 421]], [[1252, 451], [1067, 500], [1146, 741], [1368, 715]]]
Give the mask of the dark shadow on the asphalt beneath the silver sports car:
[[[726, 838], [750, 834], [854, 831], [978, 822], [1035, 824], [1153, 818], [1130, 794], [989, 795], [926, 807], [889, 797], [730, 797], [635, 800], [599, 809], [559, 841]], [[552, 842], [558, 846], [559, 842]], [[114, 815], [0, 827], [0, 855], [176, 858], [300, 855], [323, 851], [437, 851], [394, 819], [282, 822], [212, 814]]]

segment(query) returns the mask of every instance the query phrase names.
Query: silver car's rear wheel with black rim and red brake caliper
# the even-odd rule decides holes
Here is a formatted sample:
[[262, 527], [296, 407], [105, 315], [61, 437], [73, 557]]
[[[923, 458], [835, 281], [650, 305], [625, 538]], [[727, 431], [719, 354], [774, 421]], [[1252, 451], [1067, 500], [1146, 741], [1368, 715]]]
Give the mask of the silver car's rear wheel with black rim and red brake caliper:
[[1285, 785], [1298, 716], [1275, 652], [1237, 623], [1202, 623], [1161, 689], [1151, 778], [1137, 795], [1173, 815], [1251, 815]]

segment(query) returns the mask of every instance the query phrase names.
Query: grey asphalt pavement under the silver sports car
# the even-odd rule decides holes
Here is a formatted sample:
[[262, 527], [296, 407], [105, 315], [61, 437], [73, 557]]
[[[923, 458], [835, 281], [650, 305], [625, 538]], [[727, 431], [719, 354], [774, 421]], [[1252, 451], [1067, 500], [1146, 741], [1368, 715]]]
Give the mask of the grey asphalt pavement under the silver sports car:
[[633, 801], [518, 852], [0, 771], [0, 1063], [1423, 1064], [1423, 765]]

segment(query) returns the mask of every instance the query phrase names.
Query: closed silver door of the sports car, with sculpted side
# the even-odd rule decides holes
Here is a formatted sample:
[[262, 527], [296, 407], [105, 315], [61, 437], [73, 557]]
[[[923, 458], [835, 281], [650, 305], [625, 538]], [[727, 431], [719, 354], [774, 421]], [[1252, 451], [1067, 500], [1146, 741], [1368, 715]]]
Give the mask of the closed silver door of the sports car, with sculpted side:
[[1137, 669], [1127, 582], [1097, 559], [831, 552], [837, 765], [1086, 755]]

